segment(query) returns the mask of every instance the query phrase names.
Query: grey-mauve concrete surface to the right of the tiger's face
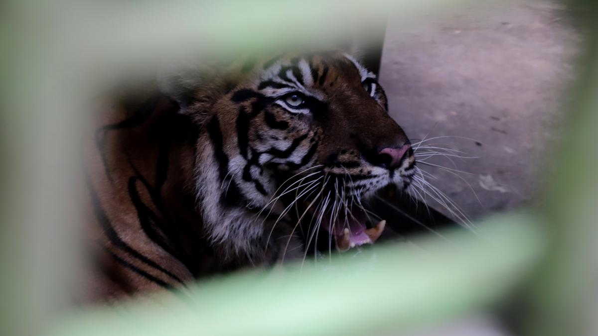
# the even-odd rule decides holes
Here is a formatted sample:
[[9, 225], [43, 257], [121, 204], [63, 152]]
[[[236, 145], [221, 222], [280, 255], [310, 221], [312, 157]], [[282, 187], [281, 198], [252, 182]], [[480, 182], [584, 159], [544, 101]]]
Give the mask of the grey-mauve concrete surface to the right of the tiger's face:
[[535, 201], [578, 45], [550, 2], [475, 5], [415, 25], [390, 16], [380, 71], [390, 113], [410, 138], [471, 138], [433, 141], [479, 157], [454, 160], [463, 180], [420, 165], [469, 218]]

